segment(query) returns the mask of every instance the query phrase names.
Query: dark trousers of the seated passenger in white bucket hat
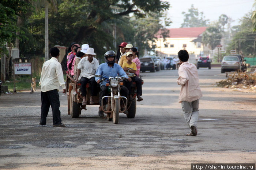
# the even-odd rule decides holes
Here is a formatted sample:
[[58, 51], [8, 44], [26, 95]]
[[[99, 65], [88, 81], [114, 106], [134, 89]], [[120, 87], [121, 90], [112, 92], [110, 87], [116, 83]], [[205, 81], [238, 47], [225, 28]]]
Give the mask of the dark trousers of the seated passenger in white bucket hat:
[[86, 78], [86, 77], [81, 77], [80, 79], [81, 82], [81, 92], [82, 92], [82, 96], [86, 96], [86, 84], [89, 82], [91, 85], [91, 96], [97, 96], [97, 87], [98, 84], [95, 81], [95, 78], [92, 77], [90, 79]]

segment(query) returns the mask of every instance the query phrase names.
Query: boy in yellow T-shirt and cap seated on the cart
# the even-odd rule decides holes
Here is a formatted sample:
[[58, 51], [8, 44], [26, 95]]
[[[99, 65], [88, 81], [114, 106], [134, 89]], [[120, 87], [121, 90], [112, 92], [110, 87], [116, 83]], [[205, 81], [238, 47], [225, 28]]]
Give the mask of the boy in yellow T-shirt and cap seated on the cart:
[[[132, 52], [127, 52], [126, 53], [126, 59], [127, 62], [125, 62], [123, 64], [123, 69], [124, 71], [129, 74], [129, 73], [136, 73], [137, 68], [136, 68], [136, 64], [132, 62]], [[142, 79], [140, 79], [138, 76], [134, 75], [132, 78], [132, 81], [136, 82], [136, 86], [137, 86], [137, 101], [140, 102], [143, 100], [142, 97]], [[127, 84], [127, 88], [129, 90], [129, 97], [130, 99], [132, 99], [132, 88], [131, 88], [131, 82], [128, 82]]]

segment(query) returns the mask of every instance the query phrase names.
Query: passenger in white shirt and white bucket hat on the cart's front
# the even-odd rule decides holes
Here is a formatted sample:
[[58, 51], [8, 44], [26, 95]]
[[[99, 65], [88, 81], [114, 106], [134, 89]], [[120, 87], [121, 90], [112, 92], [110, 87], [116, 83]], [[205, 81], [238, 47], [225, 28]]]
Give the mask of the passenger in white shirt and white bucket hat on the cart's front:
[[[83, 52], [83, 50], [81, 50]], [[84, 57], [78, 63], [78, 71], [76, 75], [76, 82], [80, 80], [81, 82], [81, 92], [83, 96], [82, 105], [86, 105], [86, 84], [90, 83], [91, 85], [91, 97], [90, 97], [90, 104], [94, 104], [93, 96], [97, 96], [97, 87], [98, 84], [95, 81], [94, 75], [99, 67], [99, 62], [94, 56], [93, 48], [88, 48], [87, 52], [85, 53], [87, 57]]]

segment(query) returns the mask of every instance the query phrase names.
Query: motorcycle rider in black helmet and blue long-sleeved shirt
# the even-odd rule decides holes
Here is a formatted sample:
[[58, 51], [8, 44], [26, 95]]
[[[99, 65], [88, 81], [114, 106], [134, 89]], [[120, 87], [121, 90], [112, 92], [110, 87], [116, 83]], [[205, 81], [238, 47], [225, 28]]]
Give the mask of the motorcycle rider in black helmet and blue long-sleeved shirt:
[[[104, 54], [104, 58], [106, 63], [102, 63], [101, 65], [99, 65], [95, 73], [95, 75], [102, 75], [103, 78], [105, 78], [105, 80], [100, 83], [101, 78], [95, 77], [96, 82], [100, 83], [101, 85], [101, 91], [99, 92], [99, 106], [100, 106], [99, 116], [103, 116], [103, 111], [101, 109], [101, 99], [103, 96], [108, 95], [108, 87], [106, 86], [106, 83], [109, 82], [109, 77], [115, 78], [116, 76], [120, 76], [120, 77], [125, 77], [129, 81], [131, 81], [131, 78], [127, 76], [123, 68], [117, 63], [115, 63], [116, 54], [114, 51], [112, 50], [107, 51]], [[125, 86], [120, 86], [120, 87], [121, 87], [120, 94], [128, 98], [128, 94], [129, 94], [128, 89]]]

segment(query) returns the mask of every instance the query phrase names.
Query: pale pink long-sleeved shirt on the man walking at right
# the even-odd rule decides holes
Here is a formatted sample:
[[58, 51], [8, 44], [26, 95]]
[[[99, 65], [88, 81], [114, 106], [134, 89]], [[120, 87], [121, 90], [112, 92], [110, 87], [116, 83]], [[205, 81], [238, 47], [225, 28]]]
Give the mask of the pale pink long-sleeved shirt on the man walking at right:
[[184, 62], [178, 70], [178, 85], [181, 85], [179, 102], [193, 102], [202, 97], [199, 86], [199, 77], [195, 64]]

